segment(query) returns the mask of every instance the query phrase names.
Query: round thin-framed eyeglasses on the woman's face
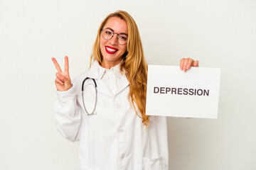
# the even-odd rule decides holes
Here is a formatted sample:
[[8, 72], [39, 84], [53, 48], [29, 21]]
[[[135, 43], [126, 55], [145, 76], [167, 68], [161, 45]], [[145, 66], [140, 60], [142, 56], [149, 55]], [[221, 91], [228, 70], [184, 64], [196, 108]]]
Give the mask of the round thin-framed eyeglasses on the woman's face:
[[[117, 34], [117, 42], [119, 43], [119, 45], [127, 44], [128, 35], [124, 33], [120, 33], [120, 34], [115, 33], [115, 34]], [[114, 32], [110, 30], [110, 28], [106, 28], [102, 30], [102, 38], [104, 38], [105, 40], [110, 40], [113, 36], [114, 36]]]

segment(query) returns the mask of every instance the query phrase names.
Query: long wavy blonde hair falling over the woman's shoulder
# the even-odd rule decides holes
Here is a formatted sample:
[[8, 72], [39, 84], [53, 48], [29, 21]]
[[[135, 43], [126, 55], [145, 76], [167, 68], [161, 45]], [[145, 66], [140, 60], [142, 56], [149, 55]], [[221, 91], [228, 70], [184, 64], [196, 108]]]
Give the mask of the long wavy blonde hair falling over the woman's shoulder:
[[[97, 31], [97, 38], [92, 50], [90, 64], [97, 60], [99, 64], [102, 63], [102, 53], [100, 52], [100, 35], [103, 27], [107, 21], [112, 17], [118, 17], [126, 21], [128, 27], [128, 41], [127, 52], [124, 53], [123, 62], [120, 70], [126, 71], [126, 77], [129, 81], [129, 96], [128, 99], [134, 106], [134, 110], [142, 118], [142, 123], [149, 125], [149, 116], [146, 115], [146, 78], [147, 78], [147, 64], [142, 49], [142, 41], [139, 35], [139, 29], [132, 16], [125, 11], [116, 11], [110, 13], [104, 21], [102, 21], [99, 30]], [[137, 112], [136, 107], [139, 109]]]

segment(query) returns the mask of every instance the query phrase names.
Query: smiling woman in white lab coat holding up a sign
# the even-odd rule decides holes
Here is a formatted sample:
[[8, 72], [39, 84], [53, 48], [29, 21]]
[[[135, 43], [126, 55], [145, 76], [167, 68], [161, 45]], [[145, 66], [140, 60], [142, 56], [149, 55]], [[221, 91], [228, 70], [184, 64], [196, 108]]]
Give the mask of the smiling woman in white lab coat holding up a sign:
[[[145, 114], [147, 65], [129, 13], [117, 11], [102, 21], [90, 69], [72, 82], [68, 57], [64, 72], [54, 58], [53, 63], [58, 70], [57, 128], [68, 140], [80, 141], [79, 169], [168, 169], [166, 117]], [[183, 59], [180, 66], [186, 71], [198, 61]], [[86, 77], [91, 79], [82, 97]], [[95, 89], [87, 86], [94, 84], [92, 79], [96, 100]]]

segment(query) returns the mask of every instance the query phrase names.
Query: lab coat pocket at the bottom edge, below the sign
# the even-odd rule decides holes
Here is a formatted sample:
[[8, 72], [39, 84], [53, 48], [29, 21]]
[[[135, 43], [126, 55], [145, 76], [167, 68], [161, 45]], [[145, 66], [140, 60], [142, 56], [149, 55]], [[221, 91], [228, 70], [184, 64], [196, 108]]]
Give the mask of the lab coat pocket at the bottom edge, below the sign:
[[164, 166], [164, 156], [155, 159], [142, 157], [142, 170], [164, 170]]

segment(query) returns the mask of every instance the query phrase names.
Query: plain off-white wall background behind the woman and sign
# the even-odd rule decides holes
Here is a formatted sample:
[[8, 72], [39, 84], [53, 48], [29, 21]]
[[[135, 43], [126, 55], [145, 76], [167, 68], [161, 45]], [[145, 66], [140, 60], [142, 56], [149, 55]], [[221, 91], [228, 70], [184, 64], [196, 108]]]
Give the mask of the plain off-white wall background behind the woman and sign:
[[169, 168], [256, 169], [256, 2], [0, 0], [0, 169], [70, 170], [79, 143], [55, 128], [55, 67], [87, 69], [101, 21], [129, 12], [149, 64], [221, 68], [217, 120], [168, 118]]

